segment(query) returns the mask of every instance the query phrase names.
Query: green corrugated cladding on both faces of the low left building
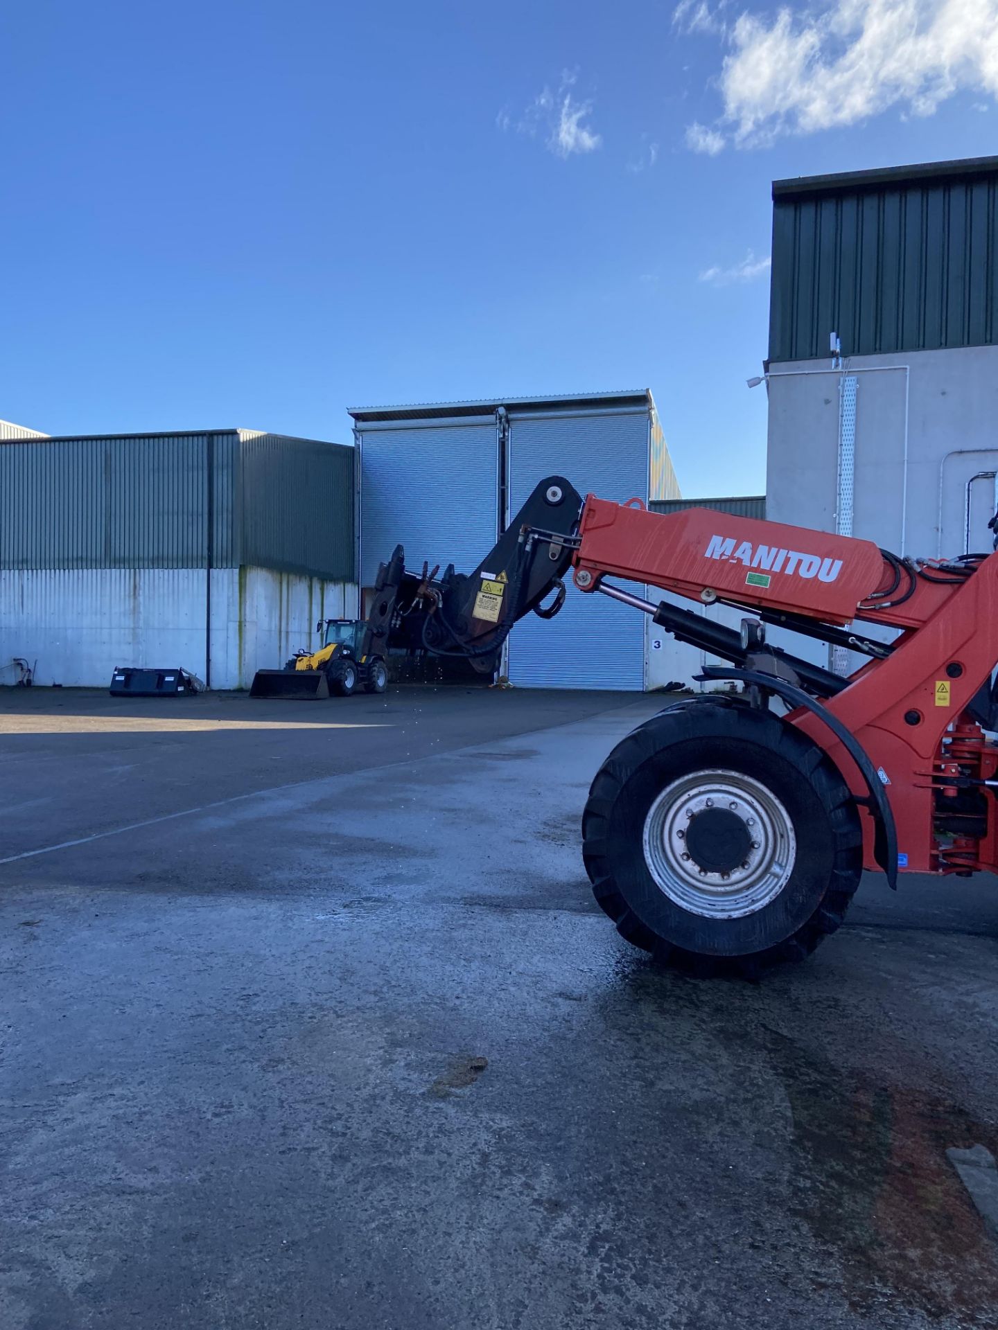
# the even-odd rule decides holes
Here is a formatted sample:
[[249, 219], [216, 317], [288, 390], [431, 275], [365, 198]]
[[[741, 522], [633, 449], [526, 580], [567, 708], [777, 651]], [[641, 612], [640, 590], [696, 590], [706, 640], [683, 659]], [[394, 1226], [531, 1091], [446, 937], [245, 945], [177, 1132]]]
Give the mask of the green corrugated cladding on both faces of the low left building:
[[205, 568], [209, 557], [354, 581], [354, 450], [232, 430], [0, 444], [0, 568]]

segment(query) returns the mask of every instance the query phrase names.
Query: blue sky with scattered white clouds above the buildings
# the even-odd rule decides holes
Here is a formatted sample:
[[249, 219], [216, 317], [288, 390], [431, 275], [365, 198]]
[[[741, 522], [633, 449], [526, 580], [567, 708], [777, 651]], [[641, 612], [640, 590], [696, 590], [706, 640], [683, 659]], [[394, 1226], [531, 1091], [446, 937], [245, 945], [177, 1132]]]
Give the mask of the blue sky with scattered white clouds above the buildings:
[[8, 0], [0, 53], [49, 434], [651, 387], [684, 492], [756, 492], [770, 181], [995, 150], [998, 0]]

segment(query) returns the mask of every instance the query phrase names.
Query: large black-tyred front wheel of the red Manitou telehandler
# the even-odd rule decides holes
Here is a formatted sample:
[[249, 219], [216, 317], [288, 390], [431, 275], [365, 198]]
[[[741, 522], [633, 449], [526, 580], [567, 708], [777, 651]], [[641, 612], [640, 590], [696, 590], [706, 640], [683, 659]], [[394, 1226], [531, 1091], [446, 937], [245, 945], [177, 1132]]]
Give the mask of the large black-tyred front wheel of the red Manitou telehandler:
[[628, 942], [695, 972], [750, 975], [838, 928], [862, 831], [817, 743], [737, 700], [704, 700], [617, 743], [589, 790], [583, 858]]

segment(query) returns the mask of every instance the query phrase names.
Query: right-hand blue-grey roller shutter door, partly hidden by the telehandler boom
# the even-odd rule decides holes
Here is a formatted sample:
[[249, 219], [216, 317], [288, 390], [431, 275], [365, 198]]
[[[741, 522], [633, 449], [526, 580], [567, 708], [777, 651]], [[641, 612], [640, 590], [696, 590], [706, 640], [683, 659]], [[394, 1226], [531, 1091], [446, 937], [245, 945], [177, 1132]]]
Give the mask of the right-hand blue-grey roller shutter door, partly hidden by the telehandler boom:
[[[648, 414], [512, 418], [510, 516], [538, 480], [563, 475], [585, 495], [645, 499]], [[571, 575], [570, 575], [571, 579]], [[510, 681], [520, 688], [644, 688], [645, 616], [571, 580], [562, 613], [551, 621], [527, 614], [510, 636]], [[621, 583], [635, 595], [643, 588]]]

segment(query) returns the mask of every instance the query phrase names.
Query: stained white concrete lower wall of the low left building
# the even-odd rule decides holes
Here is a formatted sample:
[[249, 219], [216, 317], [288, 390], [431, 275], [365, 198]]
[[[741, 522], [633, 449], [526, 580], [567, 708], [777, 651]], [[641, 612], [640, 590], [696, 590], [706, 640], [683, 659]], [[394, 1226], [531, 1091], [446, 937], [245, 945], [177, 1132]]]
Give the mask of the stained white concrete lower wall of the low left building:
[[[37, 661], [36, 684], [106, 688], [120, 665], [177, 665], [205, 677], [206, 577], [180, 569], [0, 571], [0, 684], [11, 657]], [[212, 686], [248, 688], [315, 622], [355, 613], [357, 588], [266, 568], [212, 572]]]

